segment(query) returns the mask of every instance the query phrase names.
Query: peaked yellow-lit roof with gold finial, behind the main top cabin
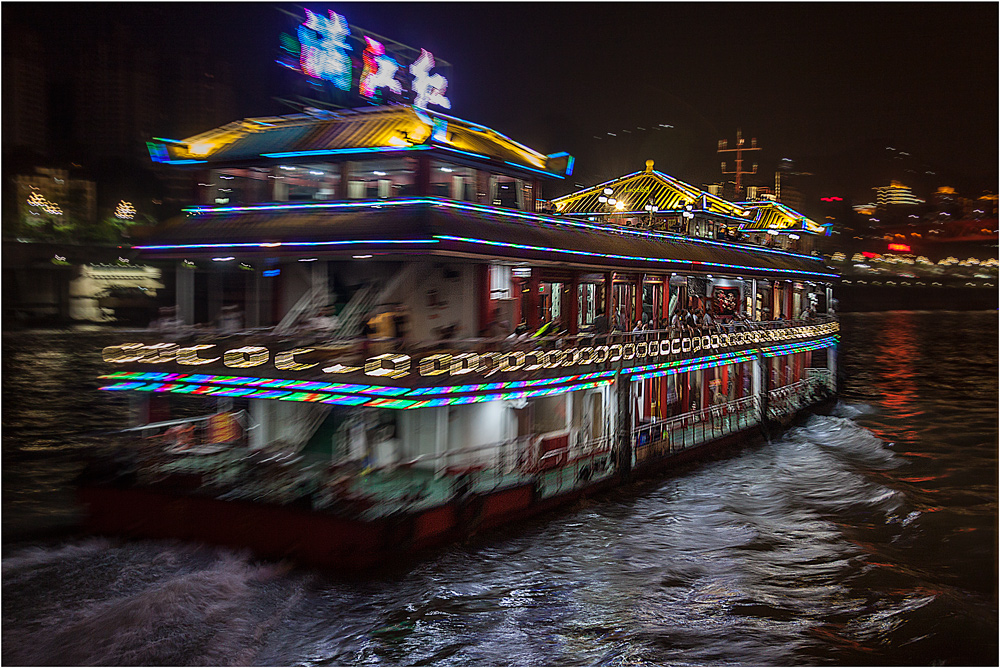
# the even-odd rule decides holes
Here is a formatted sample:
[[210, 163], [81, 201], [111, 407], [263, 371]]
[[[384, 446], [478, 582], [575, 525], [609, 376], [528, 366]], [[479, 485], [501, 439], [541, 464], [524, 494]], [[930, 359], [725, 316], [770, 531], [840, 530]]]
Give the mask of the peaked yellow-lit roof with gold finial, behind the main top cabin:
[[[605, 190], [611, 190], [608, 194]], [[624, 208], [615, 209], [601, 198], [614, 198], [624, 203]], [[552, 200], [558, 213], [562, 214], [610, 214], [616, 212], [644, 213], [643, 207], [652, 204], [660, 211], [683, 209], [688, 205], [696, 209], [725, 216], [742, 217], [743, 209], [733, 202], [696, 188], [689, 183], [675, 179], [669, 174], [653, 169], [652, 160], [646, 163], [646, 170], [606, 181], [591, 188], [585, 188]]]

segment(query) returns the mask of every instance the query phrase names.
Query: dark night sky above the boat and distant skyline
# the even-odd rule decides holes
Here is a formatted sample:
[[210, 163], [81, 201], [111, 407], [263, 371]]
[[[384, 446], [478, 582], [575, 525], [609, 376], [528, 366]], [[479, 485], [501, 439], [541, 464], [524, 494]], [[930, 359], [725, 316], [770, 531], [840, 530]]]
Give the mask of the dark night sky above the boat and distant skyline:
[[[44, 27], [56, 58], [113, 21], [167, 63], [207, 41], [235, 68], [239, 115], [256, 116], [289, 111], [271, 99], [287, 93], [274, 58], [295, 27], [280, 9], [301, 6], [170, 3], [150, 20], [120, 3], [5, 3], [3, 22]], [[748, 183], [773, 185], [789, 158], [822, 193], [855, 202], [892, 178], [924, 197], [939, 185], [997, 189], [995, 3], [305, 6], [449, 61], [450, 113], [577, 156], [561, 192], [649, 158], [694, 184], [720, 181], [716, 144], [732, 145], [738, 127], [764, 149]]]

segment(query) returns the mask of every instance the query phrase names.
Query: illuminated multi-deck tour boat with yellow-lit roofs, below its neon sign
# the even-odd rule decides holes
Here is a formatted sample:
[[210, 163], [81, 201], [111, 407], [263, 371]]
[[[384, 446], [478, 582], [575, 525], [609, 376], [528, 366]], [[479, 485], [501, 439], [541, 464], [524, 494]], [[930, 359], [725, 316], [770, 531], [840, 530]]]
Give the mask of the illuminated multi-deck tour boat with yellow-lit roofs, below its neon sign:
[[652, 161], [544, 201], [571, 156], [416, 104], [149, 147], [198, 201], [135, 241], [175, 305], [103, 351], [132, 424], [81, 476], [93, 531], [363, 567], [836, 391], [825, 230], [775, 202]]

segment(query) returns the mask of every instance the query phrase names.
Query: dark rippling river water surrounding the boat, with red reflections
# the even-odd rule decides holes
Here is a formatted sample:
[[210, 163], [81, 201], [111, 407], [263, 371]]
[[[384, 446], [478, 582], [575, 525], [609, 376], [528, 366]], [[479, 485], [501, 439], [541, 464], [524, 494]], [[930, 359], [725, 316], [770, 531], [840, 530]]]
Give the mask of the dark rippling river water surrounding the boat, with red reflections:
[[123, 420], [123, 399], [93, 391], [96, 351], [120, 335], [5, 334], [0, 658], [997, 665], [997, 313], [842, 326], [832, 415], [350, 580], [44, 533], [75, 517], [90, 432]]

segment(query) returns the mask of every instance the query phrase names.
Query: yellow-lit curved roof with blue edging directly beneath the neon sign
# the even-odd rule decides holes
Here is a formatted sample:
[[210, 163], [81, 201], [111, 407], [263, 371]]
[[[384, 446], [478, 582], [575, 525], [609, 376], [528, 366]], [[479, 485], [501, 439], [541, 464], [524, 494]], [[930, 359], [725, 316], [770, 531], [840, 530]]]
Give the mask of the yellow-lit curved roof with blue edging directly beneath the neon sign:
[[156, 162], [206, 166], [424, 149], [545, 176], [572, 173], [566, 153], [544, 155], [491, 128], [404, 105], [248, 118], [184, 140], [149, 142]]

